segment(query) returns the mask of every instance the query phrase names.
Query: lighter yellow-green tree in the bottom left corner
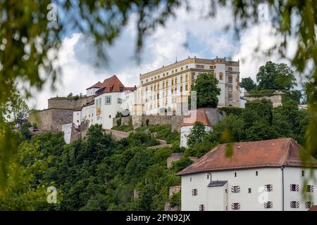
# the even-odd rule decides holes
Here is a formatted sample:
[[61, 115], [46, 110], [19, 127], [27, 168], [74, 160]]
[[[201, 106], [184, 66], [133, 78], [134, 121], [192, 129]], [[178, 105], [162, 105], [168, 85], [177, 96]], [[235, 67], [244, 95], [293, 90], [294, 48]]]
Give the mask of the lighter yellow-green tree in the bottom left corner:
[[39, 179], [48, 165], [49, 160], [42, 158], [38, 146], [27, 141], [20, 143], [8, 165], [8, 185], [0, 190], [0, 210], [39, 210], [48, 207], [46, 188], [52, 184]]

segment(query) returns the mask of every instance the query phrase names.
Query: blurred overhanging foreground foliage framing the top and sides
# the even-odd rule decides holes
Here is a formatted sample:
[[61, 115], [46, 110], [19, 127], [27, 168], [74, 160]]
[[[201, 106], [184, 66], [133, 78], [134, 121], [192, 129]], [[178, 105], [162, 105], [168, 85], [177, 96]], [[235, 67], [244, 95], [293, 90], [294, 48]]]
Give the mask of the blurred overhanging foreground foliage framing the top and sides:
[[[209, 16], [216, 15], [217, 8], [228, 6], [229, 1], [213, 1], [209, 8]], [[58, 1], [58, 9], [61, 15], [67, 17], [55, 18], [54, 10], [47, 11], [47, 6], [51, 1], [20, 2], [16, 0], [3, 1], [0, 4], [1, 13], [4, 16], [0, 21], [0, 42], [1, 42], [1, 70], [0, 70], [0, 108], [6, 104], [8, 98], [15, 89], [15, 82], [23, 80], [27, 82], [25, 87], [42, 88], [44, 81], [56, 80], [56, 70], [53, 61], [56, 55], [49, 53], [58, 52], [61, 46], [61, 39], [70, 30], [79, 30], [85, 36], [92, 39], [99, 46], [113, 44], [115, 39], [120, 36], [123, 27], [128, 25], [131, 17], [137, 26], [137, 51], [142, 47], [144, 36], [151, 34], [158, 25], [165, 24], [166, 20], [174, 15], [175, 10], [181, 6], [180, 0], [168, 1]], [[286, 58], [287, 49], [294, 43], [289, 41], [294, 35], [297, 38], [297, 49], [291, 58], [292, 66], [302, 77], [317, 80], [317, 58], [316, 56], [316, 21], [317, 6], [314, 1], [249, 1], [235, 0], [230, 4], [235, 23], [232, 27], [236, 33], [254, 26], [261, 22], [259, 18], [259, 5], [268, 4], [268, 15], [272, 15], [271, 32], [277, 39], [273, 47], [264, 53], [277, 53], [278, 56]], [[51, 6], [51, 5], [50, 5]], [[25, 11], [25, 8], [32, 10]], [[53, 7], [54, 8], [54, 7]], [[187, 7], [190, 10], [191, 7]], [[52, 8], [51, 8], [52, 9]], [[159, 9], [159, 13], [156, 13]], [[46, 16], [49, 13], [48, 17]], [[106, 17], [104, 15], [107, 15]], [[49, 18], [49, 20], [47, 19]], [[78, 23], [81, 21], [81, 23]], [[294, 25], [296, 24], [296, 25]], [[10, 27], [10, 28], [8, 28]], [[11, 29], [12, 28], [12, 29]], [[70, 29], [70, 30], [69, 30]], [[41, 41], [37, 41], [40, 37]], [[29, 49], [25, 51], [25, 49]], [[106, 55], [104, 48], [99, 49], [101, 56]], [[256, 48], [259, 51], [261, 48]], [[276, 51], [275, 51], [276, 50]], [[311, 64], [307, 68], [306, 65]], [[40, 76], [39, 71], [45, 71]], [[51, 79], [50, 79], [51, 78]], [[317, 152], [317, 119], [314, 115], [317, 112], [317, 82], [313, 82], [311, 89], [311, 101], [309, 101], [309, 124], [307, 130], [306, 147], [311, 152]], [[26, 88], [27, 94], [30, 89]], [[8, 153], [16, 149], [16, 140], [10, 129], [4, 124], [4, 112], [0, 115], [0, 153], [1, 155], [12, 155]], [[12, 140], [11, 140], [12, 139]], [[4, 180], [8, 157], [2, 157], [0, 162], [0, 180]], [[1, 182], [2, 183], [2, 182]], [[5, 184], [6, 182], [3, 182]], [[2, 187], [3, 188], [3, 187]]]

